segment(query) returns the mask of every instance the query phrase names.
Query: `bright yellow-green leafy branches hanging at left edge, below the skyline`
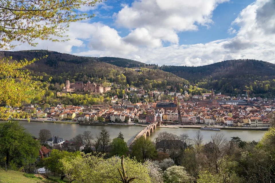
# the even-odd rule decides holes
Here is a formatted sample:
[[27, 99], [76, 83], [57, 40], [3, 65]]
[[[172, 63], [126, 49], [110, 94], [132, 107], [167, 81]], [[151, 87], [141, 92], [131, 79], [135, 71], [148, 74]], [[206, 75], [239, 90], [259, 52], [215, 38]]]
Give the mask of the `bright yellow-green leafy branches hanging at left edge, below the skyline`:
[[[21, 102], [29, 102], [42, 94], [41, 87], [47, 82], [42, 82], [40, 76], [36, 77], [30, 75], [27, 70], [21, 70], [36, 60], [38, 59], [11, 61], [11, 57], [0, 59], [0, 102], [11, 106], [20, 106]], [[49, 80], [51, 80], [51, 77]], [[6, 108], [0, 107], [0, 118], [4, 120], [7, 120], [10, 116], [13, 118], [30, 117], [25, 112], [10, 113], [5, 111]]]

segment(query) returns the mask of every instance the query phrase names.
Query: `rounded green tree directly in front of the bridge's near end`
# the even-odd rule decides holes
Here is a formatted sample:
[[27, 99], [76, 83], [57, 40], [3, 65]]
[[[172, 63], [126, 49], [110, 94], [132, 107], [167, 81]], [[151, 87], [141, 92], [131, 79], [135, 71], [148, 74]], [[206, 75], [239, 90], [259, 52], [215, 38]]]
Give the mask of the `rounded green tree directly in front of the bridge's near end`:
[[135, 157], [137, 161], [144, 162], [146, 159], [156, 157], [157, 151], [154, 144], [144, 136], [136, 139], [131, 145], [131, 157]]

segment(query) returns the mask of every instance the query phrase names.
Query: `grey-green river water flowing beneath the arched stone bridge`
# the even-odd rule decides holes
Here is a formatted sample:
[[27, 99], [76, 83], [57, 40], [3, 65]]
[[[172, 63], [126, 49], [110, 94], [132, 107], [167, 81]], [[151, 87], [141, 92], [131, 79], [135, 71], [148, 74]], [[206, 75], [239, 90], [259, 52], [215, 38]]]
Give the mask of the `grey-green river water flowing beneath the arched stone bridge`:
[[[59, 136], [64, 138], [64, 140], [69, 140], [78, 134], [83, 134], [84, 131], [89, 130], [92, 132], [93, 137], [105, 128], [110, 132], [110, 138], [116, 138], [121, 132], [124, 135], [124, 140], [129, 144], [131, 139], [140, 132], [144, 127], [142, 126], [89, 126], [89, 125], [78, 125], [78, 124], [64, 124], [64, 123], [50, 123], [50, 122], [24, 122], [21, 121], [19, 124], [23, 125], [24, 128], [28, 130], [33, 136], [38, 137], [39, 131], [41, 129], [48, 129], [51, 131], [52, 136]], [[189, 138], [193, 138], [199, 129], [193, 128], [157, 128], [154, 133], [151, 133], [150, 139], [155, 140], [160, 132], [169, 132], [175, 135], [188, 134]], [[223, 133], [227, 140], [231, 137], [238, 136], [244, 141], [259, 141], [266, 131], [258, 130], [221, 130], [221, 131], [207, 131], [201, 130], [203, 134], [204, 143], [211, 140], [211, 135], [216, 133]]]

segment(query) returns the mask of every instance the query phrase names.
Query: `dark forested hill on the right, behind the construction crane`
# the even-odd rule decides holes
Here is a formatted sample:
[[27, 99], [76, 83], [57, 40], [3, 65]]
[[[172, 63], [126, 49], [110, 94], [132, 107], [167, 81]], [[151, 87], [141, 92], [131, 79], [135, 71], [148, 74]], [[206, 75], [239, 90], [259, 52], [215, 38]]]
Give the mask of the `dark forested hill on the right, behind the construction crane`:
[[158, 68], [184, 77], [190, 84], [219, 92], [240, 94], [249, 87], [251, 94], [275, 93], [275, 64], [265, 61], [239, 59], [198, 67], [163, 65]]

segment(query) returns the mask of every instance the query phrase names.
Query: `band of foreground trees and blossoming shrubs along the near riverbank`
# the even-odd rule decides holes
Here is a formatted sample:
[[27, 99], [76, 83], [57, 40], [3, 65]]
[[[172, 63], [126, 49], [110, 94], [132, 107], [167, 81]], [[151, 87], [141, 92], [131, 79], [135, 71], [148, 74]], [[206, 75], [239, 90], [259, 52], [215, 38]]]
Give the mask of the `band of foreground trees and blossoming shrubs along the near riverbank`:
[[[45, 131], [40, 133], [41, 143], [46, 139], [42, 134], [49, 135]], [[70, 182], [123, 182], [130, 178], [131, 182], [160, 183], [275, 181], [275, 128], [260, 142], [244, 142], [238, 137], [228, 141], [223, 134], [215, 134], [205, 144], [200, 131], [192, 139], [187, 134], [162, 132], [156, 142], [140, 137], [128, 149], [123, 134], [111, 140], [105, 129], [95, 137], [85, 131], [73, 140], [75, 149], [56, 146], [48, 158], [37, 162], [40, 142], [18, 122], [1, 123], [0, 161], [35, 164]]]

